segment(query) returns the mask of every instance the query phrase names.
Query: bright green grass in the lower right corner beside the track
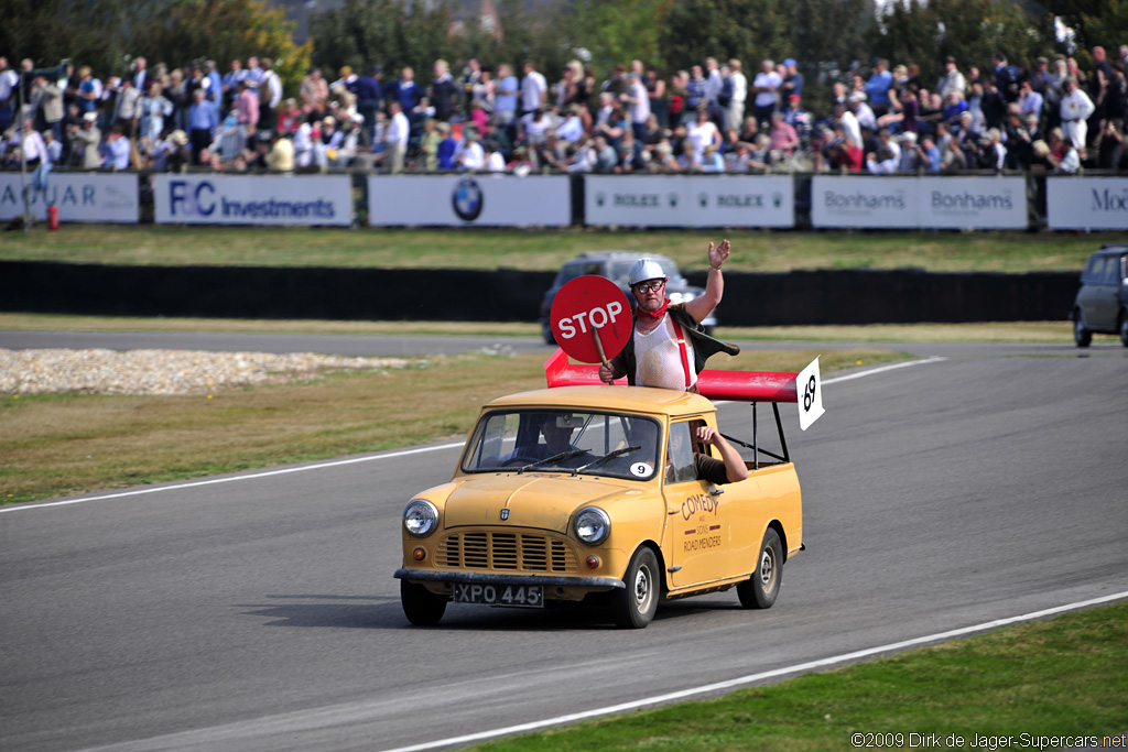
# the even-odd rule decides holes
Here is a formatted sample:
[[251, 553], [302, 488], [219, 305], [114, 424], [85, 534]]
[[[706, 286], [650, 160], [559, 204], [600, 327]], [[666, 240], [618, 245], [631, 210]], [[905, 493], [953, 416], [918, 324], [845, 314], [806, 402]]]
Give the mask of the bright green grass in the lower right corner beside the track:
[[[1117, 603], [716, 700], [637, 711], [473, 749], [805, 752], [865, 746], [1059, 750], [1089, 745], [1066, 736], [1095, 736], [1096, 744], [1109, 736], [1105, 746], [1123, 747], [1126, 646], [1128, 603]], [[852, 743], [855, 734], [863, 735], [863, 744]]]

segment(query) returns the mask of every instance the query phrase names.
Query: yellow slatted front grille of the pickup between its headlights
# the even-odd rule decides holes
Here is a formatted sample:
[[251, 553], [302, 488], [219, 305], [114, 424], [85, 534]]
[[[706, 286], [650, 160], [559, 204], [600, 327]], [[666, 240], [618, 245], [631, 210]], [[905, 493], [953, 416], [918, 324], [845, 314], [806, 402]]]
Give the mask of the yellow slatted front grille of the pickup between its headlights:
[[575, 551], [564, 540], [532, 533], [465, 532], [439, 541], [438, 566], [512, 572], [576, 572]]

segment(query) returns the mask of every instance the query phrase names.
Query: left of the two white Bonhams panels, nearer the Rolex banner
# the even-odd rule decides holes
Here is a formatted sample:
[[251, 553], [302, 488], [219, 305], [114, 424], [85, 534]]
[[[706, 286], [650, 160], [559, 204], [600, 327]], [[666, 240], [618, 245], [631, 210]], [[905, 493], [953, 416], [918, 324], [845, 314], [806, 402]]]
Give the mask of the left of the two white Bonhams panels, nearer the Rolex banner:
[[811, 225], [916, 229], [920, 227], [918, 179], [818, 175], [811, 178]]

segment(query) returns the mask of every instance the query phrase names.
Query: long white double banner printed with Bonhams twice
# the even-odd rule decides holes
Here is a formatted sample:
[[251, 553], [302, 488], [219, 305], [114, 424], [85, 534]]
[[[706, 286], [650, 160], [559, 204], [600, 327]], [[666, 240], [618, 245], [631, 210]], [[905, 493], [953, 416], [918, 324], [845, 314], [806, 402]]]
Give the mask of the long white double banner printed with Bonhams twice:
[[811, 180], [811, 224], [869, 229], [1025, 229], [1023, 177], [827, 176]]

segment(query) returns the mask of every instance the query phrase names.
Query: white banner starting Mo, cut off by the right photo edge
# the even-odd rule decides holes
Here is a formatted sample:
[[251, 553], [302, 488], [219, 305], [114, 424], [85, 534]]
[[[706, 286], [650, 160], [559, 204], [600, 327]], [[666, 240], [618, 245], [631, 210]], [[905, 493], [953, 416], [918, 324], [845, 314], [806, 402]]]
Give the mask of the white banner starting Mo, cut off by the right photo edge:
[[1046, 222], [1054, 230], [1128, 230], [1128, 178], [1046, 178]]

